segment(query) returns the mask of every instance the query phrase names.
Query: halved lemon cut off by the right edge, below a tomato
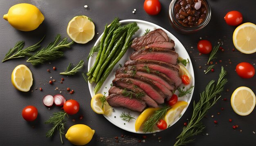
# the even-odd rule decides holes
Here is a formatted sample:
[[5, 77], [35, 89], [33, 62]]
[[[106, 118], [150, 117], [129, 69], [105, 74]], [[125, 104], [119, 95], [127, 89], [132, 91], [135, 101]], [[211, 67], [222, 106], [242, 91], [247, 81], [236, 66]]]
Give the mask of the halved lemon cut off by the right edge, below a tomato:
[[256, 25], [250, 22], [239, 25], [233, 33], [233, 43], [242, 53], [256, 52]]

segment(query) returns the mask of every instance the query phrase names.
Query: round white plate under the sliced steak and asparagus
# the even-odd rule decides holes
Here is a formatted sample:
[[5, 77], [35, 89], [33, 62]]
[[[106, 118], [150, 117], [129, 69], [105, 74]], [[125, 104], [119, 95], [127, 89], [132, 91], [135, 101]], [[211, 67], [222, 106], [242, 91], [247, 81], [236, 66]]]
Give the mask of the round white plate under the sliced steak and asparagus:
[[[135, 33], [135, 35], [132, 36], [132, 39], [143, 35], [145, 33], [146, 29], [150, 29], [151, 31], [153, 31], [155, 29], [162, 29], [162, 30], [164, 30], [167, 33], [167, 35], [169, 36], [169, 38], [171, 38], [175, 42], [175, 47], [174, 48], [175, 48], [175, 51], [179, 54], [179, 56], [184, 58], [184, 59], [187, 59], [187, 58], [189, 59], [189, 64], [186, 66], [186, 69], [191, 74], [192, 79], [191, 79], [189, 85], [185, 86], [185, 85], [182, 84], [181, 87], [185, 86], [185, 89], [186, 89], [186, 87], [189, 88], [190, 86], [194, 86], [195, 85], [195, 79], [194, 79], [195, 76], [194, 76], [193, 66], [192, 66], [191, 60], [189, 58], [189, 54], [187, 53], [186, 49], [181, 44], [181, 42], [177, 38], [175, 38], [174, 35], [172, 35], [170, 32], [166, 31], [166, 29], [164, 29], [162, 27], [159, 27], [156, 24], [153, 24], [153, 23], [147, 22], [147, 21], [143, 21], [143, 20], [122, 20], [120, 22], [121, 22], [121, 24], [127, 24], [127, 23], [132, 23], [132, 22], [136, 22], [138, 24], [139, 30]], [[100, 43], [101, 37], [102, 37], [102, 34], [98, 38], [98, 40], [96, 41], [94, 46], [96, 46], [97, 44]], [[111, 87], [110, 84], [112, 84], [112, 80], [114, 80], [114, 78], [115, 78], [115, 71], [119, 68], [119, 64], [122, 64], [124, 66], [124, 63], [127, 60], [130, 60], [129, 56], [130, 56], [130, 54], [132, 52], [134, 52], [134, 50], [132, 48], [128, 48], [128, 50], [124, 54], [123, 58], [121, 58], [121, 60], [115, 65], [114, 69], [112, 70], [112, 73], [110, 73], [110, 75], [108, 76], [108, 78], [106, 79], [106, 81], [102, 85], [101, 89], [98, 91], [98, 93], [102, 93], [103, 94], [104, 92], [106, 92], [106, 96], [108, 96], [108, 90]], [[94, 64], [96, 56], [97, 56], [97, 53], [94, 53], [93, 56], [89, 59], [88, 71], [92, 67], [92, 65]], [[93, 84], [89, 83], [89, 90], [90, 90], [90, 94], [91, 94], [92, 97], [94, 96], [94, 91], [93, 90], [94, 90], [95, 86], [96, 86], [95, 83], [93, 83]], [[193, 89], [193, 91], [194, 91], [194, 89]], [[193, 95], [193, 91], [192, 91], [191, 94], [186, 95], [186, 97], [178, 98], [178, 100], [179, 101], [182, 100], [182, 101], [186, 101], [186, 102], [190, 103], [192, 95]], [[176, 91], [176, 94], [178, 94], [178, 91]], [[182, 111], [180, 116], [177, 117], [174, 120], [173, 124], [175, 124], [180, 119], [180, 117], [185, 113], [187, 107], [184, 108], [184, 110]], [[120, 115], [123, 112], [125, 112], [126, 114], [129, 113], [135, 119], [137, 119], [137, 117], [140, 114], [138, 112], [130, 111], [130, 110], [126, 109], [126, 108], [114, 108], [114, 112], [112, 112], [112, 114], [110, 116], [104, 115], [104, 117], [106, 117], [106, 119], [108, 119], [108, 121], [111, 122], [112, 124], [116, 125], [119, 128], [122, 128], [122, 129], [124, 129], [126, 131], [130, 131], [130, 132], [133, 132], [133, 133], [143, 133], [142, 130], [140, 130], [138, 132], [135, 131], [135, 119], [131, 119], [130, 122], [125, 122], [125, 121], [123, 121], [120, 118]], [[169, 127], [171, 127], [173, 124], [171, 124]], [[157, 130], [155, 132], [158, 132], [158, 131], [161, 131], [161, 130]]]

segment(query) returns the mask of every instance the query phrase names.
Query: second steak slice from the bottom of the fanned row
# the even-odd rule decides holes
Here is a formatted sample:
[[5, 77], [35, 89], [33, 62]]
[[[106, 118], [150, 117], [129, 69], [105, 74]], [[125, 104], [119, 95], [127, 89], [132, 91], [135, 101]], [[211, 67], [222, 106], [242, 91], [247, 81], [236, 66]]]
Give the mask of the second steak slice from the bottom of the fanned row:
[[[143, 90], [141, 90], [140, 88], [134, 88], [134, 86], [132, 84], [122, 84], [122, 82], [119, 82], [116, 84], [117, 86], [121, 87], [118, 88], [116, 86], [112, 86], [109, 91], [108, 91], [108, 95], [112, 94], [112, 93], [119, 93], [122, 95], [132, 95], [135, 98], [139, 98], [141, 100], [143, 100], [144, 102], [146, 102], [146, 104], [150, 107], [158, 107], [158, 104], [152, 99], [150, 98]], [[128, 92], [128, 93], [127, 93]]]

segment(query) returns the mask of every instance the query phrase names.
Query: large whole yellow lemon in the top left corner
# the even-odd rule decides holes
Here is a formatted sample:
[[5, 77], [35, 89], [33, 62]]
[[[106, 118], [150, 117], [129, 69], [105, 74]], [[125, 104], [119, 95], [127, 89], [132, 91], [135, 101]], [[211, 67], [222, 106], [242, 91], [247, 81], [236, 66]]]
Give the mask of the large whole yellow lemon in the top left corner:
[[32, 4], [16, 4], [4, 15], [12, 27], [20, 31], [33, 31], [43, 22], [45, 17], [40, 10]]

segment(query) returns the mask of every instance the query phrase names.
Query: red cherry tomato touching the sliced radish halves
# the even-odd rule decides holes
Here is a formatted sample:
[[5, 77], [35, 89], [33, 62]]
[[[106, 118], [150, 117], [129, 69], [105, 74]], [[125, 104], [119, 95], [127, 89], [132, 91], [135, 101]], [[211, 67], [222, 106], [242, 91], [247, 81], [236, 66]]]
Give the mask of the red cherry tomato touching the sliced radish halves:
[[63, 105], [64, 111], [69, 115], [74, 115], [79, 111], [79, 103], [76, 100], [67, 100]]

